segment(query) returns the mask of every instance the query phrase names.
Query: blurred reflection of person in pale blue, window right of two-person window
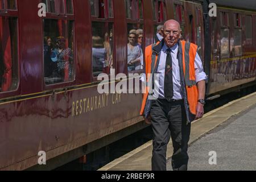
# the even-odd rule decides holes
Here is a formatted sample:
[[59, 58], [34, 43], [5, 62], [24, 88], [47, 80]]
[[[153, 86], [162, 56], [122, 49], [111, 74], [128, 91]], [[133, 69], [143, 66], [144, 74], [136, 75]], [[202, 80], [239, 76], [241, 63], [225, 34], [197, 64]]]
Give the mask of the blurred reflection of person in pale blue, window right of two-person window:
[[[100, 36], [93, 36], [92, 44], [93, 72], [96, 73], [95, 76], [97, 76], [98, 74], [105, 72], [105, 69], [108, 66], [106, 64], [107, 50], [104, 47], [104, 41]], [[105, 44], [107, 45], [107, 43]]]

